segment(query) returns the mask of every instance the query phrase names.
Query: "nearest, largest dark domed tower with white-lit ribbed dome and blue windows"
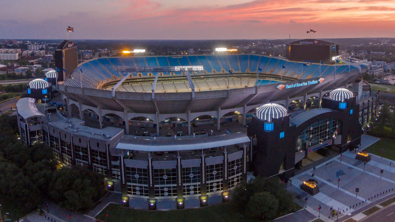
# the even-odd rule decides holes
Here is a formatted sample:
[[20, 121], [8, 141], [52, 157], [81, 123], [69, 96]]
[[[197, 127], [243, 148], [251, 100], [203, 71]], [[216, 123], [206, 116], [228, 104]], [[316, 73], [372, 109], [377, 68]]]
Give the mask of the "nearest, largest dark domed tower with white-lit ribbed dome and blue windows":
[[282, 174], [289, 178], [295, 165], [295, 145], [287, 109], [267, 103], [256, 109], [247, 134], [256, 143], [252, 151], [252, 167], [256, 175], [270, 177]]

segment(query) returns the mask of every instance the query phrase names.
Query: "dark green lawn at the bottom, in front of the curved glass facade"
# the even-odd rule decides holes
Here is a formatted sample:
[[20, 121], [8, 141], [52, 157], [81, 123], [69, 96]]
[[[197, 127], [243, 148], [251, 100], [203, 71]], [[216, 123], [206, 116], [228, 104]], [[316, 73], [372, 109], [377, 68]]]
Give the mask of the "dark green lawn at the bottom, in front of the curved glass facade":
[[[301, 207], [297, 206], [297, 209]], [[96, 218], [107, 221], [105, 216], [109, 212], [109, 221], [122, 222], [162, 222], [167, 221], [188, 221], [188, 222], [210, 222], [210, 221], [226, 221], [226, 222], [240, 222], [240, 213], [233, 209], [232, 203], [222, 203], [210, 207], [202, 207], [198, 209], [184, 209], [171, 211], [145, 211], [135, 210], [126, 207], [121, 207], [119, 204], [110, 204], [103, 211], [96, 216]], [[166, 219], [164, 219], [166, 218]], [[243, 216], [244, 221], [258, 222], [257, 219]]]

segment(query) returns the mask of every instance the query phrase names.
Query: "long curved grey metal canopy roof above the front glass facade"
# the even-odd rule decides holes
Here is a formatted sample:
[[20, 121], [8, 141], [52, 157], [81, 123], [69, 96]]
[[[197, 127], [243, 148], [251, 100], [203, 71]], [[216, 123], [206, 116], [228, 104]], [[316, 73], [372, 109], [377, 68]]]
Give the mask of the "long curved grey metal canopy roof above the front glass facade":
[[[164, 137], [166, 138], [166, 137]], [[248, 143], [250, 138], [244, 133], [224, 134], [209, 137], [186, 138], [177, 137], [176, 139], [161, 139], [161, 137], [147, 137], [147, 139], [135, 138], [132, 135], [126, 135], [117, 144], [117, 149], [134, 150], [134, 151], [181, 151], [209, 149], [222, 147], [239, 143]]]

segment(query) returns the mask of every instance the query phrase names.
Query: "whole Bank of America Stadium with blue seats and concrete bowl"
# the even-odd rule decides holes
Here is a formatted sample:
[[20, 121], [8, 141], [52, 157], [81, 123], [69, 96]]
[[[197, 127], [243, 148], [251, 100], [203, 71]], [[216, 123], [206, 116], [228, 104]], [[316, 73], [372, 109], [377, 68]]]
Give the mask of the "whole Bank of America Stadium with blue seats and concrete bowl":
[[21, 139], [47, 143], [60, 165], [102, 173], [125, 206], [228, 201], [249, 172], [286, 179], [311, 152], [359, 144], [380, 98], [360, 79], [370, 64], [331, 61], [221, 53], [95, 58], [58, 81], [60, 109], [18, 101]]

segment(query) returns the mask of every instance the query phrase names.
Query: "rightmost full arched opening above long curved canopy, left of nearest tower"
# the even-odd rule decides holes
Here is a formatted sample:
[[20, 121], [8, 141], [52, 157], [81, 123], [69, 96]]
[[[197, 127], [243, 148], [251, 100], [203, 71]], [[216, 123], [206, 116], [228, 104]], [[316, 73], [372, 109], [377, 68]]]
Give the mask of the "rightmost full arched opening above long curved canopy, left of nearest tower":
[[220, 130], [219, 132], [224, 133], [235, 133], [242, 131], [243, 114], [239, 111], [232, 111], [226, 113], [220, 118]]

